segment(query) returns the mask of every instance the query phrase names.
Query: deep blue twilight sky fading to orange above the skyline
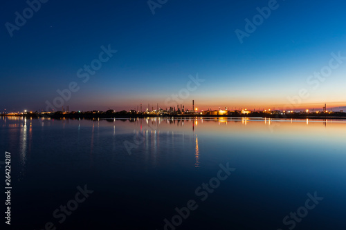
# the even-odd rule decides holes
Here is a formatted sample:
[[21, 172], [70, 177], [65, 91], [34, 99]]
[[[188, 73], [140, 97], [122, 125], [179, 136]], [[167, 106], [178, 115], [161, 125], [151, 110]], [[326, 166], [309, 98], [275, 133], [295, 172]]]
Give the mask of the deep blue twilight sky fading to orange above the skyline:
[[0, 112], [346, 106], [345, 1], [41, 1], [1, 7]]

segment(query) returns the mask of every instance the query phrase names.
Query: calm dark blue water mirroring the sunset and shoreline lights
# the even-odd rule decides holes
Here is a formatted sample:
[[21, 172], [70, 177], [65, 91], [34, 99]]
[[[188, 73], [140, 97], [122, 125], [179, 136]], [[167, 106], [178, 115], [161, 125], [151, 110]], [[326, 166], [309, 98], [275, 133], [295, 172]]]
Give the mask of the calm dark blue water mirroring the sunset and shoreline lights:
[[346, 226], [345, 121], [1, 117], [0, 137], [12, 229]]

